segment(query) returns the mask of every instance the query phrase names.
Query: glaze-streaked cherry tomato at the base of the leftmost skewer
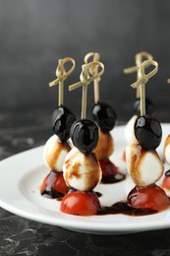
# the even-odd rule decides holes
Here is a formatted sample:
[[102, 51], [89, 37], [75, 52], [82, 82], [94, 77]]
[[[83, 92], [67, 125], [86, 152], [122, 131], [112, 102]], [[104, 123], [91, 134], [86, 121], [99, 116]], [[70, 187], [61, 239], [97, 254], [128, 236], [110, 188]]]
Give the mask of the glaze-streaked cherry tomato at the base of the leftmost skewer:
[[66, 185], [66, 182], [63, 177], [63, 172], [51, 171], [43, 180], [43, 183], [40, 187], [41, 191], [46, 191], [51, 197], [55, 198], [55, 194], [66, 195], [69, 191], [69, 187]]

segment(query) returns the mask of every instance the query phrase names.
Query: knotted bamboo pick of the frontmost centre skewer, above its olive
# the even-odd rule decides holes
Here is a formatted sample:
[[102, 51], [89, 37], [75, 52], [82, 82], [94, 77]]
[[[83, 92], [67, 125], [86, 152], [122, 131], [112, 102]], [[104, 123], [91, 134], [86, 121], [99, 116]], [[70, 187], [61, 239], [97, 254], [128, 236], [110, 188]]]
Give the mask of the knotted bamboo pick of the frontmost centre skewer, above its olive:
[[[89, 69], [91, 67], [97, 67], [101, 68], [100, 72], [95, 73], [95, 75], [90, 76], [89, 74]], [[87, 99], [87, 86], [94, 81], [95, 79], [98, 79], [104, 72], [104, 65], [101, 62], [95, 61], [95, 62], [90, 62], [88, 64], [84, 64], [82, 66], [82, 73], [80, 76], [80, 82], [71, 85], [69, 87], [69, 91], [76, 90], [80, 87], [83, 87], [83, 96], [82, 96], [82, 119], [86, 118], [86, 99]]]

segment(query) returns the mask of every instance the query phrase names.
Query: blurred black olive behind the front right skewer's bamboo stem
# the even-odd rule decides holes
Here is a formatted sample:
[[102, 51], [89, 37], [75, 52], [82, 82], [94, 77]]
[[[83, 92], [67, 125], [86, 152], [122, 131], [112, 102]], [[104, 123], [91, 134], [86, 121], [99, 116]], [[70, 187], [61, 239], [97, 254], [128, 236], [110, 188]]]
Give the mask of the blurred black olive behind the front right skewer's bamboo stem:
[[[141, 99], [136, 99], [134, 103], [134, 110], [135, 113], [140, 116], [141, 115]], [[149, 115], [154, 115], [154, 104], [151, 102], [151, 100], [148, 97], [145, 97], [145, 112]]]

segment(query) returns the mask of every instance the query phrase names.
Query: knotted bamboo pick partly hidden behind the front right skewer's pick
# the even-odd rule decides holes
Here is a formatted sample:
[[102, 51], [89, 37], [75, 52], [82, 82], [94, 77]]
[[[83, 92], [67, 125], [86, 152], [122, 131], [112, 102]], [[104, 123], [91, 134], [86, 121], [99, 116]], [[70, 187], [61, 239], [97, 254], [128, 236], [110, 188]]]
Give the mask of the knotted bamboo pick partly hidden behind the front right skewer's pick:
[[[140, 76], [141, 76], [141, 73], [139, 72], [138, 66], [142, 64], [144, 59], [145, 60], [152, 60], [153, 56], [150, 53], [146, 52], [146, 51], [142, 51], [142, 52], [137, 53], [135, 55], [136, 66], [124, 69], [124, 73], [125, 74], [131, 74], [131, 73], [137, 72], [137, 80], [139, 80]], [[138, 87], [137, 90], [136, 90], [136, 97], [137, 98], [140, 98], [141, 94], [143, 94], [143, 92], [141, 92], [141, 91], [142, 90], [140, 90], [140, 88]], [[144, 96], [144, 100], [145, 100], [145, 96]]]

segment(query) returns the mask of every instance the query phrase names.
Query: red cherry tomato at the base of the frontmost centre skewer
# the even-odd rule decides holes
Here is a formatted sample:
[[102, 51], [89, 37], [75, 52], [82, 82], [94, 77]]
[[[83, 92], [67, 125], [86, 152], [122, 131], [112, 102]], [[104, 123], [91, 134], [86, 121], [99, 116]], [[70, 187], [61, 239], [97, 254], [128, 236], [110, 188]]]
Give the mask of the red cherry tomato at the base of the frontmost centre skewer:
[[64, 196], [61, 212], [70, 215], [90, 216], [95, 215], [100, 210], [100, 203], [93, 191], [73, 191]]

